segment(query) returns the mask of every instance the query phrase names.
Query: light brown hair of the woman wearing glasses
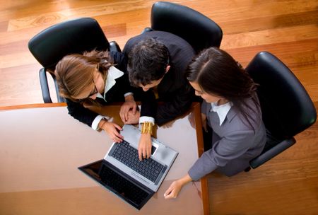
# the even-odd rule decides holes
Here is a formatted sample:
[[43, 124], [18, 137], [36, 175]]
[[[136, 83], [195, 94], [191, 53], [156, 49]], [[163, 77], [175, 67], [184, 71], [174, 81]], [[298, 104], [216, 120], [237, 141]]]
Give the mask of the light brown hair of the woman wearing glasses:
[[108, 52], [93, 50], [83, 54], [66, 55], [57, 63], [54, 71], [59, 93], [64, 98], [76, 101], [73, 97], [92, 84], [94, 71], [98, 69], [106, 79], [107, 71], [112, 65]]

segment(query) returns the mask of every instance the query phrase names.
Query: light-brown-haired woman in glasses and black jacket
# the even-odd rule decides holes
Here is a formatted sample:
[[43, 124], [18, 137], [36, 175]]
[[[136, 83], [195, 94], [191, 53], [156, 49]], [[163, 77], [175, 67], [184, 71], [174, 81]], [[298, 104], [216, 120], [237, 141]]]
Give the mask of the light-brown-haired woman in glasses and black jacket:
[[100, 113], [104, 105], [122, 101], [120, 115], [129, 110], [136, 114], [124, 54], [96, 50], [70, 54], [59, 61], [54, 74], [72, 117], [95, 130], [104, 130], [115, 142], [122, 141], [122, 127]]

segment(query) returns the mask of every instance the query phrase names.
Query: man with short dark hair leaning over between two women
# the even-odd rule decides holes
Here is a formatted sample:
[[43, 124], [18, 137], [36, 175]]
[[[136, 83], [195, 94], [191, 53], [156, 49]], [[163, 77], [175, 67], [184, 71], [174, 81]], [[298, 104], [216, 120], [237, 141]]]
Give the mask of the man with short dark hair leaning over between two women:
[[139, 159], [151, 156], [151, 132], [186, 112], [194, 91], [184, 76], [195, 52], [181, 37], [163, 31], [142, 33], [126, 42], [131, 85], [140, 87], [141, 112], [122, 114], [126, 124], [141, 124]]

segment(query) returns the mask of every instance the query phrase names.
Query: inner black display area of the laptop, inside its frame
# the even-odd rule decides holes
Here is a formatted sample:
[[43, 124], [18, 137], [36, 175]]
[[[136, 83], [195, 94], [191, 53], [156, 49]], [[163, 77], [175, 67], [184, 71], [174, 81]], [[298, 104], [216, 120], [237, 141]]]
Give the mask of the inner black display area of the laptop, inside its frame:
[[129, 180], [126, 180], [126, 178], [123, 178], [106, 165], [102, 165], [100, 178], [102, 182], [112, 187], [112, 189], [116, 190], [122, 197], [131, 200], [131, 202], [137, 205], [141, 204], [149, 195], [148, 192], [145, 192]]

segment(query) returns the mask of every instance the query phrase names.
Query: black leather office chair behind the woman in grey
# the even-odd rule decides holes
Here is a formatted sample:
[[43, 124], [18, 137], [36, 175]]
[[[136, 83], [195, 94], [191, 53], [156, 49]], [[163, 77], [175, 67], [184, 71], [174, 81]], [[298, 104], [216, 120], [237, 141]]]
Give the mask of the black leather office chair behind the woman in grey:
[[259, 52], [246, 68], [256, 83], [267, 141], [261, 155], [249, 162], [257, 168], [295, 144], [296, 134], [316, 122], [317, 112], [305, 88], [283, 62]]

